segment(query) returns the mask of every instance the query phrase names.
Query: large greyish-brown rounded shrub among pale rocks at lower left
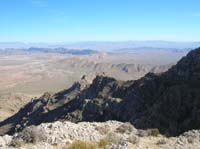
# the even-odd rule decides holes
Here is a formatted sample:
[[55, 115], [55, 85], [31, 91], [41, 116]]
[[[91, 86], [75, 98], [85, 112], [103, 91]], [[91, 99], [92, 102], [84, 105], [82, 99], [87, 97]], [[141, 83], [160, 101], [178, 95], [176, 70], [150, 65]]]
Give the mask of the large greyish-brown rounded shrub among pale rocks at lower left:
[[45, 132], [35, 126], [25, 128], [15, 138], [15, 140], [22, 140], [25, 143], [37, 143], [46, 140]]

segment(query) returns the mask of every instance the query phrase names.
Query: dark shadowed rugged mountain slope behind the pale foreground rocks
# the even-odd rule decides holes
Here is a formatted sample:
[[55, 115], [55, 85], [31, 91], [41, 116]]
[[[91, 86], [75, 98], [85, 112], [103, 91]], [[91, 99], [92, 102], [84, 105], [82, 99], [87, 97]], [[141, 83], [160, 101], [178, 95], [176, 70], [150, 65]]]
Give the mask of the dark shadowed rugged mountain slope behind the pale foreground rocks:
[[99, 75], [91, 84], [83, 77], [67, 90], [45, 93], [1, 122], [0, 134], [56, 120], [129, 121], [170, 136], [199, 128], [200, 48], [163, 74], [149, 73], [137, 81]]

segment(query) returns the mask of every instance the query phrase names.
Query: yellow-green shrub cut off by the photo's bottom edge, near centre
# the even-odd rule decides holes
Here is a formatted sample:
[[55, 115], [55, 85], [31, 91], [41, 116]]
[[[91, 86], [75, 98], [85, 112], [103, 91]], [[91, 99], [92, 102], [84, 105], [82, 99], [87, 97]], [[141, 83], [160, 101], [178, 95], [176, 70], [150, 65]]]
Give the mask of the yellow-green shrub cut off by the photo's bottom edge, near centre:
[[74, 141], [67, 149], [98, 149], [98, 146], [91, 142]]

